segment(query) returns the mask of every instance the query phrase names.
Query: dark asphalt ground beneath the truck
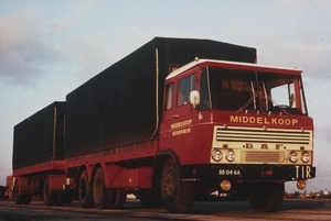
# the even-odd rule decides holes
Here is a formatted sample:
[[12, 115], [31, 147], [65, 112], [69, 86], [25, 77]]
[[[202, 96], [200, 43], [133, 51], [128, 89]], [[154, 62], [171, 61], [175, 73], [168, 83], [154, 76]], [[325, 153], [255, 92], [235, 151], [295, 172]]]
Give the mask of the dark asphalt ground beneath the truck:
[[93, 221], [93, 220], [331, 220], [331, 200], [285, 200], [280, 211], [257, 213], [247, 202], [195, 202], [190, 213], [171, 214], [164, 209], [143, 209], [138, 200], [127, 200], [122, 210], [83, 209], [78, 202], [64, 207], [46, 207], [43, 202], [17, 206], [0, 201], [2, 221]]

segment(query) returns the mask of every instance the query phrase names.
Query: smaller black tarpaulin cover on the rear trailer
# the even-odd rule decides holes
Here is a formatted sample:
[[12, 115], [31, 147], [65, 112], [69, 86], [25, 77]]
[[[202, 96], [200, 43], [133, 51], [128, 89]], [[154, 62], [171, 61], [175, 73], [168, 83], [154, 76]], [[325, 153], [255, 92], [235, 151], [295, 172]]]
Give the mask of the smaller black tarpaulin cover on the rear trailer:
[[12, 168], [63, 159], [65, 102], [54, 102], [14, 126]]

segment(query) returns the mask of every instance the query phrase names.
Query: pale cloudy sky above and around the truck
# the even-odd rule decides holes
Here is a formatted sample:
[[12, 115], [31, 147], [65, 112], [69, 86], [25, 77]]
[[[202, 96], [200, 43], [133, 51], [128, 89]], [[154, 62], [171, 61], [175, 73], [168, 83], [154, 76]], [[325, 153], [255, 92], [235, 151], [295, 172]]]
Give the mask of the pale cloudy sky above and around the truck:
[[15, 124], [164, 36], [255, 47], [258, 64], [302, 69], [317, 167], [307, 191], [331, 190], [330, 25], [327, 0], [1, 0], [0, 185]]

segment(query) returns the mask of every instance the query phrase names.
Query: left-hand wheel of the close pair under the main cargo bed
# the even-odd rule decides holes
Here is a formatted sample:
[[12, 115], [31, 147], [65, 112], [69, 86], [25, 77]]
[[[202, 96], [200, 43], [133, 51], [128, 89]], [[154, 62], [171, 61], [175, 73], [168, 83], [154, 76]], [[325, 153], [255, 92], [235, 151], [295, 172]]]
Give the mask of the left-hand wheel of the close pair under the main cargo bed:
[[93, 198], [90, 192], [90, 184], [88, 183], [87, 172], [81, 174], [78, 183], [78, 198], [83, 208], [93, 207]]

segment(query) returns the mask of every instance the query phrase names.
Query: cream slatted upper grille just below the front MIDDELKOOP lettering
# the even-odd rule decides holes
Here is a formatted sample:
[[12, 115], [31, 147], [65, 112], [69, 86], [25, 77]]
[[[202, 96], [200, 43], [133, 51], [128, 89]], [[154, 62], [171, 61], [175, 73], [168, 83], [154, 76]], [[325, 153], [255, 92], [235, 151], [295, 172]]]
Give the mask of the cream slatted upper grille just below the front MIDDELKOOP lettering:
[[311, 141], [310, 131], [275, 130], [275, 129], [216, 129], [217, 142], [275, 143], [308, 145]]

